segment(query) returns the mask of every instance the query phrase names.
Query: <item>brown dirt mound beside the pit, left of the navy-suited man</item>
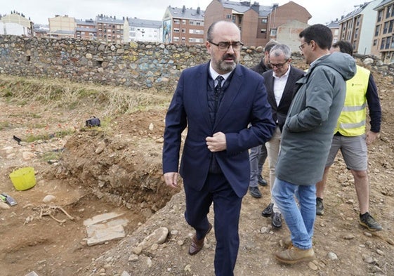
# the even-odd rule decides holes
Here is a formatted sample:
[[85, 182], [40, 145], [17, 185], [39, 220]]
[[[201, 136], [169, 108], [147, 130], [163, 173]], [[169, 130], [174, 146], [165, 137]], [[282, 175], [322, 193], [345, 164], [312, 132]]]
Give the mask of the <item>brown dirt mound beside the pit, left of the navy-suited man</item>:
[[176, 192], [162, 185], [163, 117], [164, 110], [136, 112], [114, 119], [105, 131], [82, 129], [67, 140], [53, 176], [117, 206], [158, 211]]

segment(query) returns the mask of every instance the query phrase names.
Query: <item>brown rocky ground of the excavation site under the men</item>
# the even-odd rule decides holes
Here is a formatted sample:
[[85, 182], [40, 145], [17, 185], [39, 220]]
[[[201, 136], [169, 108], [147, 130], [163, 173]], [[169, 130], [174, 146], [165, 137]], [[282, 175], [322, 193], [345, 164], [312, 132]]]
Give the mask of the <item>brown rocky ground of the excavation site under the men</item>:
[[[370, 212], [383, 231], [359, 225], [352, 176], [339, 157], [329, 174], [324, 216], [315, 224], [315, 260], [275, 261], [289, 231], [286, 225], [272, 229], [261, 216], [269, 202], [263, 187], [261, 199], [244, 197], [235, 275], [394, 275], [393, 79], [374, 76], [383, 124], [369, 147]], [[183, 191], [169, 190], [161, 177], [169, 97], [163, 105], [110, 119], [103, 106], [70, 110], [0, 98], [0, 191], [18, 202], [0, 209], [0, 275], [214, 275], [214, 235], [220, 233], [212, 231], [204, 250], [189, 256], [193, 231], [183, 218]], [[102, 119], [101, 127], [84, 127], [91, 115]], [[23, 141], [39, 133], [52, 135]], [[37, 185], [16, 191], [8, 174], [22, 166], [34, 167]], [[267, 168], [263, 176], [268, 179]], [[53, 199], [43, 202], [48, 195]], [[40, 218], [45, 206], [62, 207], [73, 219], [60, 209]], [[84, 221], [108, 212], [123, 214], [126, 237], [88, 246]]]

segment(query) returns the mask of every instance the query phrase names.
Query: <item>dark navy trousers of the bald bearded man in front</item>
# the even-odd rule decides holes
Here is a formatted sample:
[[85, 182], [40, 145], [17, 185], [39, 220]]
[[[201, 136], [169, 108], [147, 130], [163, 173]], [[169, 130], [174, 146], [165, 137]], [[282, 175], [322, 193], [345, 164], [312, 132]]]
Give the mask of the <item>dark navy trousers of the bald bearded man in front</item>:
[[207, 215], [209, 207], [214, 203], [215, 275], [234, 275], [239, 249], [238, 227], [242, 198], [235, 194], [222, 173], [209, 173], [201, 191], [185, 185], [185, 195], [185, 219], [195, 228], [197, 239], [202, 239], [209, 228]]

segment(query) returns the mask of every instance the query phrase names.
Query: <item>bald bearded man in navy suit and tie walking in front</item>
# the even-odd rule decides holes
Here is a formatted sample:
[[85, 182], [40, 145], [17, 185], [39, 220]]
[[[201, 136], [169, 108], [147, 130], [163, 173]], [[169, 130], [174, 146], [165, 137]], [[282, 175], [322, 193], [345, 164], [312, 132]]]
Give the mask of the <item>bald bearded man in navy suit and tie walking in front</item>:
[[210, 62], [182, 72], [166, 114], [163, 172], [166, 185], [177, 187], [181, 133], [188, 127], [179, 173], [185, 219], [196, 231], [189, 254], [204, 246], [214, 203], [215, 274], [231, 276], [242, 197], [249, 185], [248, 149], [269, 140], [275, 123], [263, 77], [238, 64], [242, 42], [237, 25], [214, 22], [206, 40]]

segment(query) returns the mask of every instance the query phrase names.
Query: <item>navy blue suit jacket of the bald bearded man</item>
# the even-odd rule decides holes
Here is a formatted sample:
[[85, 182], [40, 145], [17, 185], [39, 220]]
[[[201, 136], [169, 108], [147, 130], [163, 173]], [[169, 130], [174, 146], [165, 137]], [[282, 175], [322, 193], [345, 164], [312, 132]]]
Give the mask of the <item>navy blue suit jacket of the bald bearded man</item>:
[[[243, 197], [250, 177], [248, 149], [270, 140], [275, 130], [264, 79], [260, 74], [237, 65], [212, 125], [207, 97], [208, 78], [209, 63], [188, 68], [180, 74], [166, 114], [163, 171], [178, 171], [181, 133], [188, 126], [180, 164], [184, 185], [201, 190], [211, 158], [216, 155], [232, 189]], [[225, 133], [227, 150], [213, 154], [205, 139], [218, 131]]]

